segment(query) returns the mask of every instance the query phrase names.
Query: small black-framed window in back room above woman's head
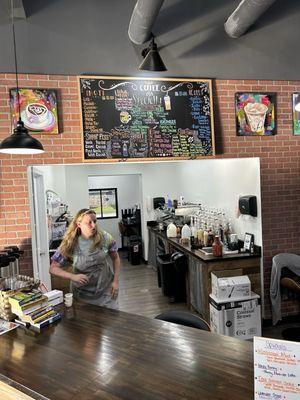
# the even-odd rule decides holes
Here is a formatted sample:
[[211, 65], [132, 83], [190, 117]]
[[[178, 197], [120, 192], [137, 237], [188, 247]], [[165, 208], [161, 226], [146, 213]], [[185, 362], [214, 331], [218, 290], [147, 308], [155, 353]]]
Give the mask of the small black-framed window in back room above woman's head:
[[118, 218], [117, 188], [90, 189], [89, 208], [94, 210], [97, 218]]

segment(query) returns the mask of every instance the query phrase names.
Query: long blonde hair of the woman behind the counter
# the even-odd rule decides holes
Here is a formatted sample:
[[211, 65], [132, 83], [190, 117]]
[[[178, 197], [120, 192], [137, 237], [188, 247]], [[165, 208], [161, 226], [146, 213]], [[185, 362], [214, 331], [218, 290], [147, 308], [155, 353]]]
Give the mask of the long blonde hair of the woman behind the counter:
[[[60, 253], [67, 258], [69, 261], [73, 259], [73, 252], [78, 243], [78, 238], [81, 235], [81, 230], [78, 227], [78, 222], [81, 222], [85, 215], [96, 215], [95, 211], [88, 208], [82, 208], [77, 212], [75, 217], [72, 219], [65, 236], [59, 246]], [[97, 224], [95, 226], [95, 233], [92, 236], [93, 245], [91, 250], [95, 250], [102, 242], [102, 234], [99, 232]]]

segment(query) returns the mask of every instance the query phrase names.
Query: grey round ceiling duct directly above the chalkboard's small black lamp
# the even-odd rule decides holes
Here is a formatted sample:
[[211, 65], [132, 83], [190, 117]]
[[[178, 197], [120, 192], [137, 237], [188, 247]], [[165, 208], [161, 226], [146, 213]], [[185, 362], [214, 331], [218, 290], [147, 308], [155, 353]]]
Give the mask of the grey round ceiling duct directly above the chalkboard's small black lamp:
[[129, 39], [143, 44], [151, 39], [151, 29], [164, 0], [138, 0], [134, 7], [129, 28]]

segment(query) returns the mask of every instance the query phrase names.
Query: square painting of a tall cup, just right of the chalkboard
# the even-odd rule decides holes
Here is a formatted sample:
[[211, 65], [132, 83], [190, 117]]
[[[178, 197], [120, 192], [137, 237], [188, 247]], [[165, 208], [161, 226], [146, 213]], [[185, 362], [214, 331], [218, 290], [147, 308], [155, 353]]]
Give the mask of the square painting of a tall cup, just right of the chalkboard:
[[236, 93], [237, 136], [276, 134], [275, 93]]

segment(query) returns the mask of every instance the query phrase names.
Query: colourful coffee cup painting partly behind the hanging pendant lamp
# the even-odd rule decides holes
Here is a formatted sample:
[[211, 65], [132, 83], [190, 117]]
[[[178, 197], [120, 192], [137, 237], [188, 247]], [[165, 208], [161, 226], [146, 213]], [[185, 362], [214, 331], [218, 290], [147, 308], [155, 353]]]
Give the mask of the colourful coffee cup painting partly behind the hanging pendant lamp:
[[[25, 127], [32, 133], [57, 134], [57, 91], [54, 89], [19, 89], [20, 112]], [[19, 118], [17, 89], [10, 89], [12, 127]]]

